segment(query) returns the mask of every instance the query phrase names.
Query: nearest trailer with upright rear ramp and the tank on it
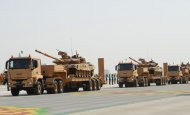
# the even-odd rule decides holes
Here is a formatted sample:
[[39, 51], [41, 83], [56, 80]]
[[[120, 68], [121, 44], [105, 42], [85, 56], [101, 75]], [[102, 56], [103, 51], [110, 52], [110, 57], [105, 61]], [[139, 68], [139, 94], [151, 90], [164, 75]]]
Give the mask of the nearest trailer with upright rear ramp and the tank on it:
[[93, 76], [95, 67], [86, 62], [86, 59], [76, 55], [68, 56], [66, 52], [58, 51], [60, 59], [35, 50], [36, 52], [54, 59], [53, 63], [62, 66], [66, 71], [65, 79], [63, 80], [63, 86], [65, 92], [76, 92], [79, 88], [83, 88], [84, 91], [100, 90], [102, 85], [105, 84], [104, 78], [104, 59], [98, 59], [99, 75]]

